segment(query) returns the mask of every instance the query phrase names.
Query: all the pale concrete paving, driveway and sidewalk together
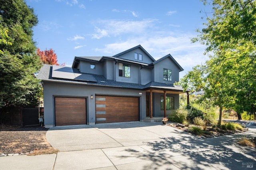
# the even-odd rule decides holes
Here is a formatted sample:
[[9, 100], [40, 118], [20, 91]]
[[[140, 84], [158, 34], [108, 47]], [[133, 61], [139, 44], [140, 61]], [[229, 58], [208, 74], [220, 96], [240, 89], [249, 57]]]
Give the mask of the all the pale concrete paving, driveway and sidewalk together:
[[[255, 132], [202, 139], [160, 123], [55, 127], [58, 154], [0, 157], [1, 169], [255, 169], [256, 148], [236, 144]], [[247, 166], [249, 165], [249, 166]], [[250, 168], [252, 167], [252, 168]]]

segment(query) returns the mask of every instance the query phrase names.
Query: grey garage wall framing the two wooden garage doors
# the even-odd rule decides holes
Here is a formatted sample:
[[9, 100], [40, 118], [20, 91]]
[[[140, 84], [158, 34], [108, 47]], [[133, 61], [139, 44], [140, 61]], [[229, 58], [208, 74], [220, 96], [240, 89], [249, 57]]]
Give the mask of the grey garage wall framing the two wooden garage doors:
[[[142, 93], [140, 95], [139, 93]], [[93, 99], [90, 96], [93, 95]], [[146, 117], [146, 92], [133, 89], [116, 89], [109, 87], [96, 87], [88, 85], [72, 85], [64, 83], [44, 82], [44, 125], [46, 128], [55, 126], [54, 97], [82, 97], [86, 98], [86, 121], [88, 125], [94, 125], [95, 95], [130, 96], [139, 97], [140, 120]]]

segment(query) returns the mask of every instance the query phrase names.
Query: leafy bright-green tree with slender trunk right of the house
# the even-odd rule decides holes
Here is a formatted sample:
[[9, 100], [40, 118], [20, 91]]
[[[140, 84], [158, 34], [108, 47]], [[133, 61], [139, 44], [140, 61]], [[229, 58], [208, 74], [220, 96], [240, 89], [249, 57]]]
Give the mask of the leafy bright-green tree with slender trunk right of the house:
[[209, 60], [182, 79], [183, 87], [203, 89], [204, 98], [241, 113], [256, 111], [256, 2], [255, 0], [204, 0], [212, 16], [192, 42], [206, 45]]

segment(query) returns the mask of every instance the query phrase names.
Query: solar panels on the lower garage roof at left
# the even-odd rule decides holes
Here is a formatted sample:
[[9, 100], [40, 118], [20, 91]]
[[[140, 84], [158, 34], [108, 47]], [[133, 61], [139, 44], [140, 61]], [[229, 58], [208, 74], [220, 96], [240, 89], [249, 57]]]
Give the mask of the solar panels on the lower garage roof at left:
[[52, 77], [60, 79], [81, 80], [97, 82], [93, 75], [84, 73], [74, 73], [71, 67], [52, 66]]

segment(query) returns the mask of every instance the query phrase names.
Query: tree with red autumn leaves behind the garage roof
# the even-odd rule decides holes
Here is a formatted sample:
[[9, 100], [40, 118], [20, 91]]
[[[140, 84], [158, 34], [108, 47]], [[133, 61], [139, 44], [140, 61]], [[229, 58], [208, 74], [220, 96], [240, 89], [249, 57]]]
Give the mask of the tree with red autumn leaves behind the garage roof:
[[[51, 64], [51, 65], [59, 65], [57, 60], [57, 55], [54, 53], [54, 50], [50, 48], [50, 50], [41, 51], [40, 48], [37, 48], [36, 50], [37, 55], [39, 55], [40, 60], [44, 64]], [[65, 63], [61, 64], [62, 66], [65, 66]]]

